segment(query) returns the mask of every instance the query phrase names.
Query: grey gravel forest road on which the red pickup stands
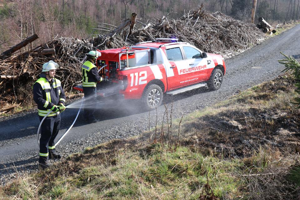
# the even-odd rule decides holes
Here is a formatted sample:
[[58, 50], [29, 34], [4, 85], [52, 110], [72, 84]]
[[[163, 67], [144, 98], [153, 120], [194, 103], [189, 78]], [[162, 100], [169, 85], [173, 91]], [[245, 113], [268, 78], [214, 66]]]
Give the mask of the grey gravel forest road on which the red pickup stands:
[[[297, 39], [298, 38], [298, 39]], [[277, 60], [283, 56], [279, 52], [300, 57], [300, 25], [272, 37], [261, 44], [225, 61], [227, 73], [222, 88], [208, 92], [196, 89], [176, 96], [164, 96], [165, 103], [173, 102], [173, 118], [179, 118], [195, 110], [203, 109], [218, 101], [226, 100], [239, 91], [263, 81], [276, 78], [283, 69]], [[68, 103], [68, 102], [67, 102]], [[101, 109], [98, 123], [85, 124], [79, 115], [74, 127], [57, 146], [64, 157], [82, 151], [114, 138], [128, 138], [147, 130], [149, 112], [140, 112], [134, 102], [116, 103], [115, 109]], [[164, 107], [158, 108], [161, 122]], [[66, 109], [62, 113], [59, 138], [72, 124], [78, 109]], [[155, 125], [156, 111], [150, 112], [150, 126]], [[0, 122], [0, 185], [5, 185], [18, 173], [37, 171], [38, 145], [36, 132], [39, 125], [37, 113], [21, 113], [2, 119]]]

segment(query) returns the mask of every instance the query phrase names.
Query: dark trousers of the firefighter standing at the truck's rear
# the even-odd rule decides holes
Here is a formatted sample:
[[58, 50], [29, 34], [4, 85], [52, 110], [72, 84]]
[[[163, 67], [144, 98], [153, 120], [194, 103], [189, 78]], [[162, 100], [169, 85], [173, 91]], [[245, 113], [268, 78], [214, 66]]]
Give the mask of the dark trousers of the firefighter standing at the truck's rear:
[[84, 117], [86, 121], [95, 120], [94, 112], [97, 108], [97, 88], [83, 87], [84, 93]]

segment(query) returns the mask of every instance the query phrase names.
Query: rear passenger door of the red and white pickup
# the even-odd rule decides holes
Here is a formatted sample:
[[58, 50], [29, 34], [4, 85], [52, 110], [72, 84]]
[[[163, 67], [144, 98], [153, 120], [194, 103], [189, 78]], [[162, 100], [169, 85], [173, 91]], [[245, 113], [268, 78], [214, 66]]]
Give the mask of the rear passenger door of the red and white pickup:
[[187, 68], [188, 64], [183, 58], [180, 47], [169, 47], [166, 49], [168, 61], [166, 61], [166, 70], [168, 70], [168, 90], [181, 88], [187, 85], [187, 74], [179, 75], [179, 68]]

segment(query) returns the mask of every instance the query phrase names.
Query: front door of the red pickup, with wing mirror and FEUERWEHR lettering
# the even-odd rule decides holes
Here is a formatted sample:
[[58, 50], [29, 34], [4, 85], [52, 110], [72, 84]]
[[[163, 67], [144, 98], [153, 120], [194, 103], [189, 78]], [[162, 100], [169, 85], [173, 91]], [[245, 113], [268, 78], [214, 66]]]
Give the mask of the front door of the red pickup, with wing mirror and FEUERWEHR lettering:
[[187, 74], [188, 85], [204, 81], [207, 77], [207, 59], [201, 52], [190, 46], [183, 46], [187, 68], [181, 68], [179, 74]]

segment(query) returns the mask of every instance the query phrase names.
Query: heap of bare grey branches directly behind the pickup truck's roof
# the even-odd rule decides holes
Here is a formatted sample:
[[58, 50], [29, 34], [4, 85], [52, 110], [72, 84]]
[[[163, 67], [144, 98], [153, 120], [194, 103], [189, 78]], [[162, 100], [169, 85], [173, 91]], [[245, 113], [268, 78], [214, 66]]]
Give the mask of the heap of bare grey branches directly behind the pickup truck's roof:
[[94, 46], [102, 49], [131, 46], [138, 42], [151, 41], [158, 37], [178, 38], [208, 53], [218, 53], [228, 58], [245, 51], [266, 36], [254, 24], [233, 19], [222, 12], [210, 13], [200, 8], [191, 10], [179, 19], [163, 16], [155, 21], [148, 20], [140, 28], [125, 38], [123, 31], [117, 37], [99, 35], [93, 40]]

